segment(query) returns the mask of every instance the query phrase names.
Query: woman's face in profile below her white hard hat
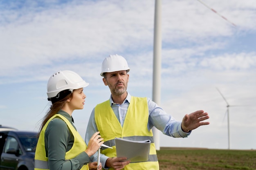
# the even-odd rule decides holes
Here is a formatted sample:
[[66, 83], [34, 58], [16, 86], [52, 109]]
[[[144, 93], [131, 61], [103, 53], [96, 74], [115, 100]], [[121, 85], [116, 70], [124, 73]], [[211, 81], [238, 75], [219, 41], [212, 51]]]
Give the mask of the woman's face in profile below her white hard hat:
[[73, 90], [73, 97], [70, 100], [70, 108], [72, 110], [83, 109], [86, 95], [83, 93], [83, 88]]

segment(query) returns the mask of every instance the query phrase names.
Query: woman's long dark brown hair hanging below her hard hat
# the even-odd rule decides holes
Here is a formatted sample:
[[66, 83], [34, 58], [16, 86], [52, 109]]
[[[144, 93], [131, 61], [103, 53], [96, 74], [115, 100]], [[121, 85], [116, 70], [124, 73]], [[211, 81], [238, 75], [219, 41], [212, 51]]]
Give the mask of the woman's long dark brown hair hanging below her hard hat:
[[42, 124], [40, 126], [40, 130], [39, 130], [38, 135], [40, 135], [40, 132], [42, 131], [42, 129], [45, 126], [46, 122], [51, 117], [53, 117], [56, 113], [58, 113], [59, 110], [61, 110], [63, 108], [64, 104], [67, 102], [67, 99], [68, 98], [72, 99], [73, 93], [71, 91], [69, 91], [69, 90], [65, 90], [65, 91], [61, 91], [59, 93], [59, 96], [62, 96], [62, 97], [59, 97], [58, 99], [53, 98], [51, 100], [52, 105], [48, 109], [47, 114], [45, 115], [45, 117], [43, 117], [43, 122], [42, 122]]

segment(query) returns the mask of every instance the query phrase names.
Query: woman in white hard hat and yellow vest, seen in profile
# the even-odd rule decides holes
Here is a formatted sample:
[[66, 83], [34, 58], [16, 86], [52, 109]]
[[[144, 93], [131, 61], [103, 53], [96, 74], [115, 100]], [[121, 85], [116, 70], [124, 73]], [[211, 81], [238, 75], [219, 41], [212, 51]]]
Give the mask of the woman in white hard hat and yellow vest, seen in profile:
[[[97, 169], [97, 162], [89, 163], [89, 157], [103, 144], [103, 138], [96, 132], [86, 146], [71, 116], [74, 110], [83, 109], [86, 86], [73, 71], [59, 71], [49, 78], [47, 95], [52, 105], [40, 126], [35, 170]], [[101, 164], [98, 168], [101, 170]]]

